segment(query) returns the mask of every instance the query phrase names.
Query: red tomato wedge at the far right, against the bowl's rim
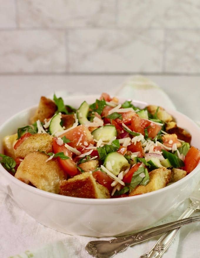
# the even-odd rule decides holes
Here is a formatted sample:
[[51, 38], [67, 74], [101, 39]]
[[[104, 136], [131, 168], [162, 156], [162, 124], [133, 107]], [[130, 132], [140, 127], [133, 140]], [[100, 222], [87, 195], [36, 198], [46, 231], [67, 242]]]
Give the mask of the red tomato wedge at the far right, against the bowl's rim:
[[198, 165], [200, 161], [200, 150], [195, 147], [191, 147], [185, 156], [185, 170], [190, 173]]

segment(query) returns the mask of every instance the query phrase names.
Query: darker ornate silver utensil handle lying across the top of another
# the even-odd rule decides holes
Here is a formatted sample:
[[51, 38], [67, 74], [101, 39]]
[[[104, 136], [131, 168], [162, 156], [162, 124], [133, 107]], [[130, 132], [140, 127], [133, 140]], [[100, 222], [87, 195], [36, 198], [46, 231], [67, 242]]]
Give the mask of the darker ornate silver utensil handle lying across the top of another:
[[[114, 254], [123, 252], [131, 245], [135, 245], [136, 243], [140, 243], [146, 239], [160, 235], [169, 230], [180, 228], [182, 225], [186, 225], [195, 221], [200, 221], [200, 215], [170, 222], [126, 237], [116, 237], [109, 241], [90, 241], [86, 245], [85, 250], [96, 258], [108, 258], [113, 256]], [[144, 257], [147, 258], [148, 256], [143, 256], [143, 258]]]

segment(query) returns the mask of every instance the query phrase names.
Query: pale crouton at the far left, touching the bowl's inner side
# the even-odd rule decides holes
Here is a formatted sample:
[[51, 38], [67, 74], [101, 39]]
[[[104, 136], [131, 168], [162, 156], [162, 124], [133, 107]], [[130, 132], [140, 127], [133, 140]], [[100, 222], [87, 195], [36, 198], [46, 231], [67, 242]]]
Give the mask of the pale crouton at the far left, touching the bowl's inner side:
[[9, 157], [12, 157], [13, 159], [15, 158], [14, 145], [16, 142], [17, 142], [17, 133], [13, 135], [7, 135], [4, 137], [4, 140], [3, 140], [4, 154]]

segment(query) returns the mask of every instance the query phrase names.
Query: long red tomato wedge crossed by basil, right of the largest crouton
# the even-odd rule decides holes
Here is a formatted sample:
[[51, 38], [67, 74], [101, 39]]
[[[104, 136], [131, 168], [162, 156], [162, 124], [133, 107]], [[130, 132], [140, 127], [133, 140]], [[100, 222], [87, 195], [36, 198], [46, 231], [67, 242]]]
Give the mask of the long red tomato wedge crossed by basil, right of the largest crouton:
[[68, 174], [69, 176], [75, 176], [75, 175], [79, 174], [76, 164], [72, 159], [71, 151], [68, 150], [64, 145], [58, 145], [56, 140], [57, 140], [57, 138], [54, 137], [53, 138], [54, 153], [64, 152], [64, 155], [69, 157], [69, 159], [61, 159], [60, 157], [57, 158], [61, 167], [64, 169], [66, 174]]

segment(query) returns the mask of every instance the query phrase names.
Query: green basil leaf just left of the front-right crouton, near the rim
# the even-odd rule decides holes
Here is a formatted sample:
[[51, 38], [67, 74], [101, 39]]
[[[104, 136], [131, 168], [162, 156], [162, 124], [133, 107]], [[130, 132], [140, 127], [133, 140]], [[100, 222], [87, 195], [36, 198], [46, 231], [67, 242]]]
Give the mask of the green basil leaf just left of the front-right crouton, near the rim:
[[[144, 173], [145, 176], [141, 177], [141, 173]], [[149, 183], [149, 173], [148, 170], [144, 167], [139, 167], [139, 169], [133, 174], [131, 183], [126, 184], [120, 191], [116, 191], [114, 195], [121, 195], [124, 193], [129, 193], [137, 186], [137, 185], [144, 185], [146, 186]]]

